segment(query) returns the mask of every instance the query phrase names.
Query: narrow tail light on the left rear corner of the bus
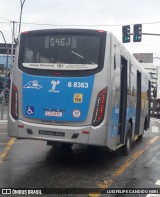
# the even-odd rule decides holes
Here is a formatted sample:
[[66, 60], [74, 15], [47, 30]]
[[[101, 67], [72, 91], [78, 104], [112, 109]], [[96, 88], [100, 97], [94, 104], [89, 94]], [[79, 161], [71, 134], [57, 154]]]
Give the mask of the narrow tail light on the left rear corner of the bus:
[[18, 89], [12, 85], [11, 114], [15, 120], [18, 119]]

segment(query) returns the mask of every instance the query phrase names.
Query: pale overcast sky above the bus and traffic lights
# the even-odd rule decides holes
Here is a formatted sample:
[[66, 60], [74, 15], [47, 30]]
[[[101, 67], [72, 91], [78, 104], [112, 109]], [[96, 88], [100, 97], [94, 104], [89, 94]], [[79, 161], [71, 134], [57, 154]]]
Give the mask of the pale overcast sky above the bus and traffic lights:
[[[0, 31], [4, 33], [7, 42], [11, 42], [10, 21], [19, 21], [20, 0], [0, 0], [0, 10]], [[85, 28], [112, 31], [122, 41], [121, 25], [139, 23], [143, 23], [143, 33], [160, 34], [160, 0], [26, 0], [21, 31], [65, 25], [82, 28], [85, 25]], [[0, 42], [3, 42], [1, 37]], [[142, 42], [131, 41], [125, 46], [131, 53], [153, 52], [154, 56], [160, 57], [160, 36], [142, 36]]]

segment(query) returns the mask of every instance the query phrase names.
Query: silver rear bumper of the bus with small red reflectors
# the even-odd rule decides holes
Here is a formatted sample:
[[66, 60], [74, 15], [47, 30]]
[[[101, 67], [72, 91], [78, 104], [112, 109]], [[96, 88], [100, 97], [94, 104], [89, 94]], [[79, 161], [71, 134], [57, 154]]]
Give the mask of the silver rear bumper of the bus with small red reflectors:
[[59, 143], [76, 143], [105, 146], [106, 127], [94, 128], [87, 126], [56, 126], [30, 123], [22, 120], [8, 120], [8, 135], [21, 139], [35, 139]]

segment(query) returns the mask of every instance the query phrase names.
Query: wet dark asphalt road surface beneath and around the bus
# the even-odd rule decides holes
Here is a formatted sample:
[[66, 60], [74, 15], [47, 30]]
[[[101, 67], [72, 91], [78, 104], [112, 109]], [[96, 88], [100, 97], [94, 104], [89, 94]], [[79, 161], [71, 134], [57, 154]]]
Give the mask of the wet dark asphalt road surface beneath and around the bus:
[[88, 196], [99, 196], [93, 194], [94, 188], [103, 192], [107, 188], [160, 187], [159, 142], [160, 120], [155, 119], [128, 156], [120, 150], [80, 145], [55, 149], [44, 141], [15, 140], [7, 137], [6, 124], [1, 123], [0, 188], [78, 188]]

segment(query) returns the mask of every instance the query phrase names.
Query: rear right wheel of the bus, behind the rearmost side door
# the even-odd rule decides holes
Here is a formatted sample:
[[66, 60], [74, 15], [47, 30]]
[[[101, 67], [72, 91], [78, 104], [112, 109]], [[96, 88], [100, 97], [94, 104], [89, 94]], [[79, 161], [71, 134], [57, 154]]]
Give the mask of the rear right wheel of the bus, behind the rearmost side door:
[[123, 153], [125, 155], [128, 155], [130, 150], [131, 150], [131, 144], [132, 144], [131, 131], [132, 131], [131, 124], [128, 123], [126, 139], [125, 139], [125, 145], [123, 147]]

